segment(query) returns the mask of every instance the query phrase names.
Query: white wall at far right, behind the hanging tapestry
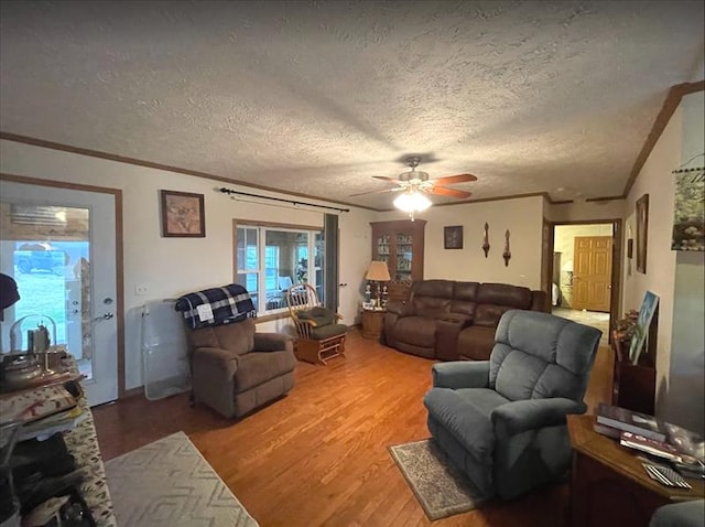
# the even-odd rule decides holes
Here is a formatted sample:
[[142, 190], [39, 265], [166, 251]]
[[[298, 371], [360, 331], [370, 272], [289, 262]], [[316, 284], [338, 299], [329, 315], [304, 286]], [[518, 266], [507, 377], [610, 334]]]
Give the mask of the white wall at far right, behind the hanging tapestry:
[[[636, 236], [634, 206], [649, 194], [647, 273], [625, 268], [623, 310], [639, 309], [647, 290], [660, 297], [657, 415], [703, 432], [705, 359], [703, 254], [671, 250], [674, 208], [672, 171], [703, 152], [703, 92], [684, 97], [657, 142], [627, 198], [625, 238]], [[695, 164], [702, 165], [702, 158]], [[626, 241], [626, 239], [625, 239]], [[636, 248], [634, 248], [636, 249]]]

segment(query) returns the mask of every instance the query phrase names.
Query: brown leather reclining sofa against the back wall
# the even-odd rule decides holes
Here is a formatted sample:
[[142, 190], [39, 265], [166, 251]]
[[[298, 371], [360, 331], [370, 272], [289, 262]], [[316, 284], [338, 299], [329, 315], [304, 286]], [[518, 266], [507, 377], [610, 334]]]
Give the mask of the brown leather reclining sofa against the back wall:
[[415, 281], [405, 302], [390, 302], [384, 342], [441, 361], [487, 361], [495, 330], [509, 310], [547, 311], [546, 294], [507, 283]]

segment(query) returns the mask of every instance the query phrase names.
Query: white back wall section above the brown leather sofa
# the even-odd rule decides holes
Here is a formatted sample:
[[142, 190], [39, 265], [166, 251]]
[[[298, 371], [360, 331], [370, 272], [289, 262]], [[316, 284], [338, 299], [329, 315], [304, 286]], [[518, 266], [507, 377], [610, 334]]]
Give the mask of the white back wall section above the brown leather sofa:
[[[543, 197], [431, 207], [426, 219], [424, 278], [500, 282], [541, 288]], [[377, 221], [402, 219], [400, 212], [380, 213]], [[485, 223], [489, 224], [489, 256], [482, 251]], [[463, 226], [463, 249], [443, 248], [443, 227]], [[505, 266], [505, 232], [509, 229], [511, 259]]]

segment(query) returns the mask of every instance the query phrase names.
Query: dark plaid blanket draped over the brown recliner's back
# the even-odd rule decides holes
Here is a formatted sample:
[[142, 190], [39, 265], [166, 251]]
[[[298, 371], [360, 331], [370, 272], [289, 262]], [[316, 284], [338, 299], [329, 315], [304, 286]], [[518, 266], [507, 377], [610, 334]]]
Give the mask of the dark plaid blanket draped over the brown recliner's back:
[[238, 283], [184, 294], [176, 300], [174, 309], [184, 313], [194, 330], [257, 316], [250, 293]]

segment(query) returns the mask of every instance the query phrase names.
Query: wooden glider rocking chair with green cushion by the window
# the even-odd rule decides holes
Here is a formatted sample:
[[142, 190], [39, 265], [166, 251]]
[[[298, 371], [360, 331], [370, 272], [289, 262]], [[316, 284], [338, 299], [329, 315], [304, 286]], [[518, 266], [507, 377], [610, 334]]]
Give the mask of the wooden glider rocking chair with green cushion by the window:
[[314, 288], [307, 283], [292, 287], [286, 291], [286, 304], [299, 336], [296, 358], [325, 365], [345, 353], [348, 327], [337, 323], [341, 315], [321, 305]]

